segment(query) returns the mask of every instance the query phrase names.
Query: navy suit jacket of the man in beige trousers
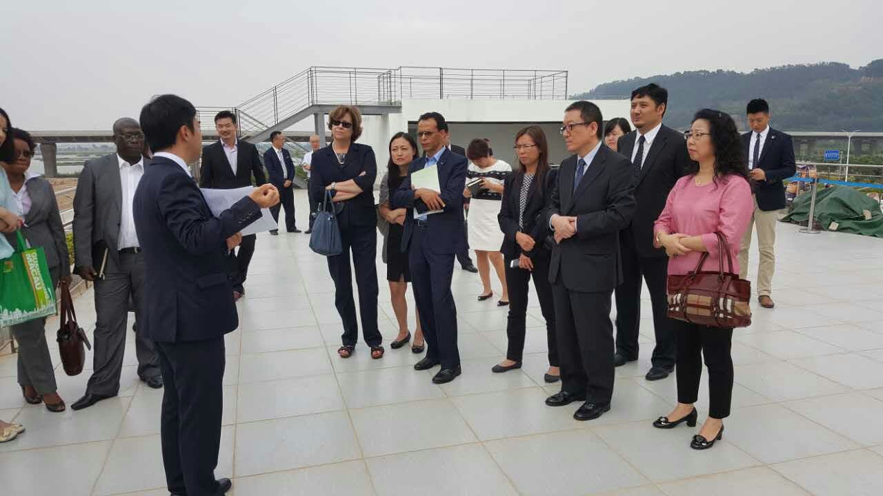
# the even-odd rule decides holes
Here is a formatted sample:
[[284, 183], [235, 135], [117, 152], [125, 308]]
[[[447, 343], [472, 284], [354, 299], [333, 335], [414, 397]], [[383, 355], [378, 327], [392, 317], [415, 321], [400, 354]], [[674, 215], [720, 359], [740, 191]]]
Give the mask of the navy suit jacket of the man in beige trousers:
[[[751, 150], [751, 132], [742, 135], [742, 143], [745, 150], [745, 163], [748, 157], [754, 153]], [[758, 165], [764, 169], [766, 181], [751, 180], [751, 190], [758, 200], [758, 208], [764, 212], [779, 210], [785, 207], [785, 184], [783, 180], [794, 176], [797, 166], [794, 161], [794, 141], [789, 134], [776, 131], [772, 127], [766, 134], [764, 147], [760, 150]]]

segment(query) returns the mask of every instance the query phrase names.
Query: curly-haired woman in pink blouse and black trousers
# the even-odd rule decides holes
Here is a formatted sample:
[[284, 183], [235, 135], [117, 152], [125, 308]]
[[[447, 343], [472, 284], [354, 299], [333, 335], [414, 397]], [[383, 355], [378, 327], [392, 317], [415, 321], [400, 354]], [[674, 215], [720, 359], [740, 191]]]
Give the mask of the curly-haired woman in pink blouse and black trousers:
[[[733, 119], [717, 110], [699, 110], [684, 135], [690, 158], [698, 162], [668, 193], [665, 209], [654, 226], [657, 247], [668, 254], [668, 274], [687, 274], [696, 268], [702, 252], [708, 252], [706, 267], [716, 269], [721, 256], [715, 232], [729, 244], [733, 271], [738, 274], [739, 242], [751, 218], [753, 203], [742, 140]], [[725, 259], [726, 260], [726, 259]], [[727, 267], [726, 264], [724, 267]], [[723, 419], [729, 416], [733, 392], [733, 358], [730, 345], [733, 329], [698, 326], [675, 320], [677, 344], [677, 406], [653, 426], [670, 429], [686, 422], [695, 426], [702, 357], [708, 367], [708, 418], [693, 449], [707, 449], [720, 440]]]

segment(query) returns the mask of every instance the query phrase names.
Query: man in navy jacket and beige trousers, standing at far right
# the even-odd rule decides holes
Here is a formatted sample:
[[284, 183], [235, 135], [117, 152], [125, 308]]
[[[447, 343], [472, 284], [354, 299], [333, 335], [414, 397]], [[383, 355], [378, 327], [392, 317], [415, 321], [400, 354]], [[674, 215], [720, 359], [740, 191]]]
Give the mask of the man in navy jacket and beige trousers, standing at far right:
[[742, 237], [739, 248], [739, 276], [748, 275], [748, 250], [751, 248], [752, 224], [758, 231], [758, 302], [773, 308], [773, 274], [775, 272], [775, 225], [785, 207], [784, 179], [794, 176], [794, 142], [791, 137], [770, 127], [770, 106], [765, 100], [748, 102], [746, 109], [751, 132], [742, 135], [745, 156], [754, 193], [754, 214]]

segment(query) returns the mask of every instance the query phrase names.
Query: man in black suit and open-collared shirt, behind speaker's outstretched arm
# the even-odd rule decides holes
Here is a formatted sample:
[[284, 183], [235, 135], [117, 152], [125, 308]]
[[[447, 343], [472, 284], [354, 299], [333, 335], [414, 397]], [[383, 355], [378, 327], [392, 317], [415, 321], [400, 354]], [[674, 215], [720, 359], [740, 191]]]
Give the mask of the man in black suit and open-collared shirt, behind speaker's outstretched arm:
[[[258, 157], [258, 148], [237, 138], [236, 115], [230, 110], [218, 112], [215, 116], [215, 128], [221, 139], [202, 148], [200, 187], [218, 190], [244, 188], [252, 185], [252, 175], [259, 186], [266, 183], [264, 169]], [[242, 244], [239, 244], [239, 252], [230, 251], [228, 264], [233, 277], [235, 299], [245, 295], [245, 277], [248, 275], [248, 264], [254, 255], [256, 239], [253, 234], [245, 236], [242, 238]]]

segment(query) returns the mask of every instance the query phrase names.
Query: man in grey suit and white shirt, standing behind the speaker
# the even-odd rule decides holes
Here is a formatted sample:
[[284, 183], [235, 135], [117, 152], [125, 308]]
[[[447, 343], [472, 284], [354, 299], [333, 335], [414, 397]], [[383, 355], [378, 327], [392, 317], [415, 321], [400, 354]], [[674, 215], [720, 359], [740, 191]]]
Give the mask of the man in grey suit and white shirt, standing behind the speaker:
[[[132, 118], [113, 125], [117, 153], [86, 162], [73, 199], [74, 271], [94, 281], [94, 371], [86, 394], [71, 405], [81, 410], [119, 393], [130, 297], [135, 320], [144, 312], [144, 259], [132, 216], [132, 199], [147, 160], [144, 133]], [[138, 376], [162, 387], [154, 343], [135, 333]]]

